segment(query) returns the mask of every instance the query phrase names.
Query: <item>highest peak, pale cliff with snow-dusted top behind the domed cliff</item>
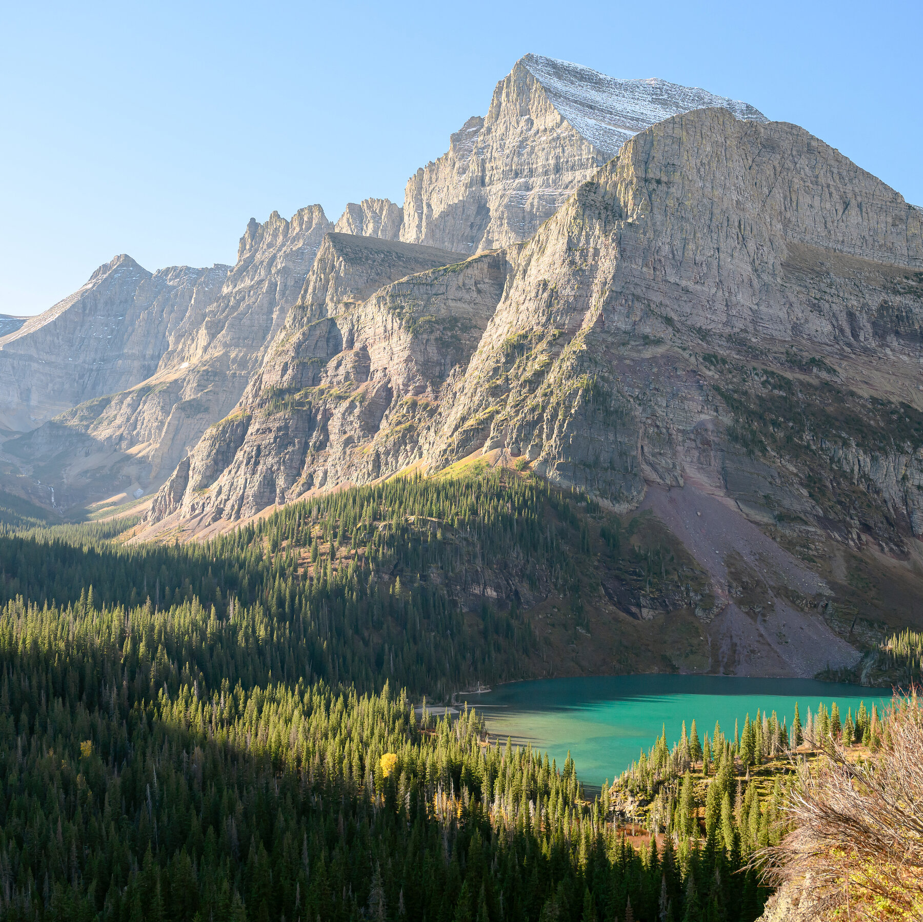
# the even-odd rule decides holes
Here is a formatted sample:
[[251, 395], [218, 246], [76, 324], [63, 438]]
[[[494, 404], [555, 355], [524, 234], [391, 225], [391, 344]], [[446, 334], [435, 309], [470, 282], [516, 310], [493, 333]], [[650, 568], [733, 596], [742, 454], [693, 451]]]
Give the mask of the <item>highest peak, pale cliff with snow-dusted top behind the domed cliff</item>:
[[618, 80], [527, 54], [497, 83], [486, 116], [410, 178], [401, 239], [476, 253], [527, 240], [638, 131], [677, 113], [752, 106], [667, 83]]

